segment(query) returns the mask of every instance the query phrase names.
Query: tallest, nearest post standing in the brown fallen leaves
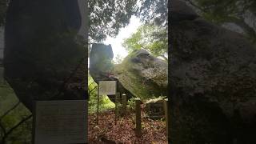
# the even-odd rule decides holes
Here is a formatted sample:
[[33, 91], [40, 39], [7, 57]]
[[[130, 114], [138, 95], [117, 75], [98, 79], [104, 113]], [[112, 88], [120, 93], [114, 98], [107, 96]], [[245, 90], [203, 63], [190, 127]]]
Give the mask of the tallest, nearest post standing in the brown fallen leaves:
[[135, 135], [137, 137], [142, 136], [142, 115], [141, 115], [141, 100], [139, 98], [135, 99], [135, 105], [136, 105], [136, 129], [135, 129]]

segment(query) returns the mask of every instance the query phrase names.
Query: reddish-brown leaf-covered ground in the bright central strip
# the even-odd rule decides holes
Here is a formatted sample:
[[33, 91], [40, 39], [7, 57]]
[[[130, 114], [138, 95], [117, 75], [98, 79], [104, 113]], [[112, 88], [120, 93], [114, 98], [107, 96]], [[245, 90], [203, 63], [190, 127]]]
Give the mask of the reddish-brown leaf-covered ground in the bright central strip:
[[126, 116], [119, 116], [115, 125], [114, 110], [89, 114], [89, 143], [159, 143], [166, 144], [166, 122], [145, 117], [142, 110], [142, 137], [135, 136], [135, 113], [128, 111]]

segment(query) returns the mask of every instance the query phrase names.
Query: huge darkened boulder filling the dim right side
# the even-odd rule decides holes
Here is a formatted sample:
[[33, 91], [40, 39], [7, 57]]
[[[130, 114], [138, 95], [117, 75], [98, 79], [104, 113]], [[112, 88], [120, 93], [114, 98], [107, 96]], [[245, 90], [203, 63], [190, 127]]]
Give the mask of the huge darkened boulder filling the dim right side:
[[202, 18], [170, 22], [171, 142], [256, 143], [256, 48]]

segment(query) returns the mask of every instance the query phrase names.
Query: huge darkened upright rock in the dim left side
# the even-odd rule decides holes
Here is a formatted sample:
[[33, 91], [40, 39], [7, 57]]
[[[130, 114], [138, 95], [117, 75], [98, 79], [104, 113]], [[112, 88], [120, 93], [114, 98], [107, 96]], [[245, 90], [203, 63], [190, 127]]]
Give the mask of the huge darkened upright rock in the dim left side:
[[6, 15], [5, 78], [30, 110], [34, 100], [86, 97], [78, 1], [15, 0]]

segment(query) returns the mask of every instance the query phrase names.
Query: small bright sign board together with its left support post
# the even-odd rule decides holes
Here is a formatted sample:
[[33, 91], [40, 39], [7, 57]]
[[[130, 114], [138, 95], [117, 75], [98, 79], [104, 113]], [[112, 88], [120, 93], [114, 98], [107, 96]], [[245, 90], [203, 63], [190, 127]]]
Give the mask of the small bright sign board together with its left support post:
[[98, 82], [98, 100], [97, 100], [97, 125], [98, 125], [98, 104], [100, 95], [114, 95], [117, 94], [116, 81], [99, 81]]

